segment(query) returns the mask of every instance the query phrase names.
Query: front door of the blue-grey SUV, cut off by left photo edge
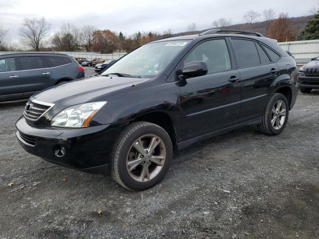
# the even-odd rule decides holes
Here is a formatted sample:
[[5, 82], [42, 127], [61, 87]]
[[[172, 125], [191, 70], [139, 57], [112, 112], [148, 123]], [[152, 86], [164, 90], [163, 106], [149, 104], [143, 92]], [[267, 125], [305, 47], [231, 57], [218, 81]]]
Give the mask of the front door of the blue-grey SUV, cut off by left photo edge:
[[18, 97], [18, 94], [22, 96], [20, 71], [18, 71], [16, 58], [2, 58], [0, 59], [0, 99], [14, 99]]

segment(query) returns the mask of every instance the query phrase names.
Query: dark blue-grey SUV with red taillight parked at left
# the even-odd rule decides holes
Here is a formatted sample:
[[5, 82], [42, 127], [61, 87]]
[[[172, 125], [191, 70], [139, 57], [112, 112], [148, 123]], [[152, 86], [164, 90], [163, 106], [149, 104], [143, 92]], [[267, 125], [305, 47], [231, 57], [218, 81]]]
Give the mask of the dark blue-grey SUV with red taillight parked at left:
[[83, 67], [65, 54], [0, 55], [0, 101], [29, 98], [50, 86], [83, 77]]

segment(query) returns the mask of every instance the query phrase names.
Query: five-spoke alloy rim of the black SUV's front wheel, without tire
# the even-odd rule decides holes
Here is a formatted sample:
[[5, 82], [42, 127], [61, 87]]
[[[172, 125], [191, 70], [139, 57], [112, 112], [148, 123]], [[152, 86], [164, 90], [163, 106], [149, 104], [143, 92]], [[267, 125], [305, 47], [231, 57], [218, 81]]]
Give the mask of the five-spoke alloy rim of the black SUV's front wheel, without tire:
[[131, 145], [126, 168], [132, 179], [147, 182], [155, 178], [163, 168], [166, 158], [165, 144], [155, 134], [139, 137]]

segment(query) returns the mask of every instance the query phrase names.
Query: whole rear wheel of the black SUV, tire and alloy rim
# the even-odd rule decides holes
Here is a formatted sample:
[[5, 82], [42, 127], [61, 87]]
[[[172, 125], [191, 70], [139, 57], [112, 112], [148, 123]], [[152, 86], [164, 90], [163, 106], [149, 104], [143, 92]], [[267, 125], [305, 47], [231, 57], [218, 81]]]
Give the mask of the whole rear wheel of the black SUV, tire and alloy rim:
[[[280, 109], [279, 109], [279, 114], [278, 113], [278, 105], [279, 103]], [[273, 111], [273, 108], [275, 112]], [[285, 109], [285, 118], [283, 118], [283, 110]], [[279, 115], [279, 116], [278, 116]], [[277, 117], [275, 119], [275, 116]], [[259, 131], [265, 134], [269, 135], [277, 135], [280, 134], [284, 128], [286, 127], [287, 120], [289, 117], [289, 105], [287, 98], [280, 93], [275, 93], [272, 95], [270, 98], [265, 114], [262, 119], [262, 123], [258, 124], [257, 127]], [[279, 121], [278, 121], [279, 120]]]

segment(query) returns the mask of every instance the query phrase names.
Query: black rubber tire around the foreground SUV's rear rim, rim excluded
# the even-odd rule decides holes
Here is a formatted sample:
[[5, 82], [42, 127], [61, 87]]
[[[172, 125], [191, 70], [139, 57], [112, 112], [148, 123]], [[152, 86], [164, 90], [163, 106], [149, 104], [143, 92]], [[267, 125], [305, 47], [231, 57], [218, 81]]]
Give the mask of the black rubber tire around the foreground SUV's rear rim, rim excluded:
[[[276, 104], [276, 102], [279, 100], [282, 100], [285, 104], [286, 118], [285, 118], [285, 121], [282, 124], [282, 126], [279, 129], [275, 129], [271, 123], [272, 109], [273, 109], [274, 105]], [[269, 135], [280, 134], [284, 130], [284, 128], [286, 127], [288, 117], [289, 117], [289, 104], [288, 104], [287, 98], [283, 94], [275, 93], [272, 95], [272, 97], [270, 98], [270, 100], [267, 104], [262, 123], [258, 124], [257, 127], [258, 127], [259, 131], [261, 131], [262, 133], [265, 133], [265, 134], [269, 134]]]

